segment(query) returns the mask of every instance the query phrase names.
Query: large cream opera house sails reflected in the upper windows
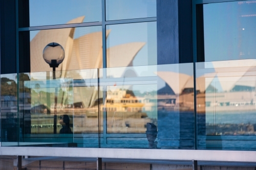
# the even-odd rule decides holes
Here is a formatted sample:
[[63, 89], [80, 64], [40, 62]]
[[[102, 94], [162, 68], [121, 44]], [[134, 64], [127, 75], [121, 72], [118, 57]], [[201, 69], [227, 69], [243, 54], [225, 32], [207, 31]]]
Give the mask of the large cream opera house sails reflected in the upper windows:
[[[80, 23], [83, 19], [84, 16], [81, 16], [68, 23]], [[50, 42], [58, 42], [65, 50], [65, 60], [56, 68], [56, 70], [63, 71], [61, 77], [67, 76], [66, 70], [101, 68], [102, 32], [93, 32], [74, 39], [76, 29], [78, 28], [41, 30], [37, 33], [30, 43], [31, 72], [51, 71], [41, 56], [45, 44]], [[106, 37], [109, 34], [111, 34], [111, 30], [106, 31]], [[106, 52], [107, 60], [110, 61], [108, 67], [132, 66], [133, 58], [144, 44], [144, 42], [131, 42], [108, 48]], [[84, 46], [87, 47], [86, 50], [84, 50]], [[116, 56], [123, 56], [124, 59], [119, 59]], [[76, 75], [69, 76], [76, 77]]]

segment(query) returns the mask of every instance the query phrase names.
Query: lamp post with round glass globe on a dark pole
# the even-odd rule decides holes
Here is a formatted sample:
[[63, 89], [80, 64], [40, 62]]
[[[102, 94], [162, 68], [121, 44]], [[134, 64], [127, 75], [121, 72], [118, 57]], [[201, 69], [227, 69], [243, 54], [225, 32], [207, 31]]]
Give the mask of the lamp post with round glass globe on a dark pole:
[[[44, 51], [42, 51], [42, 57], [44, 57], [44, 60], [46, 63], [52, 67], [52, 76], [53, 79], [56, 79], [55, 70], [56, 67], [59, 66], [60, 63], [65, 58], [65, 52], [63, 47], [56, 43], [52, 42], [46, 45], [44, 48]], [[53, 133], [57, 133], [57, 95], [58, 95], [58, 88], [55, 87], [55, 96], [54, 96], [54, 119], [53, 119]]]

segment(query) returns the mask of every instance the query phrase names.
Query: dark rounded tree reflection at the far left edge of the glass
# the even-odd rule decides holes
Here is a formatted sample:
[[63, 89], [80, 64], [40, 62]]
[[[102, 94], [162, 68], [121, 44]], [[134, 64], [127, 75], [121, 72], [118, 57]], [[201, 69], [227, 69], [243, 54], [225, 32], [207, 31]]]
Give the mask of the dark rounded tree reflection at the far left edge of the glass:
[[1, 78], [1, 95], [17, 96], [16, 82], [8, 78]]

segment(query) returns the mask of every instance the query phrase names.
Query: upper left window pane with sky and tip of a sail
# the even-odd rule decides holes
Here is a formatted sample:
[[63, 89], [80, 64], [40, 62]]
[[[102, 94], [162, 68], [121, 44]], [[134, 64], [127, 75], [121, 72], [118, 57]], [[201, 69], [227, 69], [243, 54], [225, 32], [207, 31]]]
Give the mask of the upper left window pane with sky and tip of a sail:
[[29, 0], [30, 27], [95, 22], [101, 16], [101, 0]]

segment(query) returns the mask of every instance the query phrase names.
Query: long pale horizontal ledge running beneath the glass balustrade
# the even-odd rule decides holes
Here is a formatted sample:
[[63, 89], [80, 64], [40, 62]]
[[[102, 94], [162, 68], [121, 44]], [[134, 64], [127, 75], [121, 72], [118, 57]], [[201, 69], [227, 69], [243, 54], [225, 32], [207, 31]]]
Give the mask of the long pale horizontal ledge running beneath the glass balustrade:
[[256, 162], [255, 151], [0, 147], [0, 155]]

